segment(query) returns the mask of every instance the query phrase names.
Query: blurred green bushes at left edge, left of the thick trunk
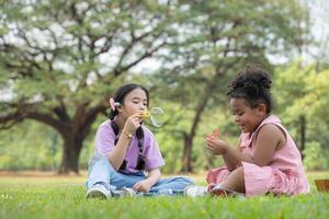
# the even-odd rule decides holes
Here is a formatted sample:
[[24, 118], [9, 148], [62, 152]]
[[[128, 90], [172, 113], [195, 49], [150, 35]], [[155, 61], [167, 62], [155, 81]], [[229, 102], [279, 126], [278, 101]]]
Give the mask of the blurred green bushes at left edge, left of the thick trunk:
[[56, 171], [61, 154], [61, 139], [50, 128], [25, 123], [0, 132], [0, 170]]

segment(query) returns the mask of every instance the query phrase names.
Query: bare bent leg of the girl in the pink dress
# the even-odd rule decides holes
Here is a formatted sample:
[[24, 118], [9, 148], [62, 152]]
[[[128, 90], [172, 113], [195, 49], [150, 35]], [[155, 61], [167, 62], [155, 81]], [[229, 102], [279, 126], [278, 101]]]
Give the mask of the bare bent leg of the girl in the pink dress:
[[223, 187], [232, 189], [238, 193], [246, 193], [243, 168], [234, 170], [225, 181], [222, 183]]

